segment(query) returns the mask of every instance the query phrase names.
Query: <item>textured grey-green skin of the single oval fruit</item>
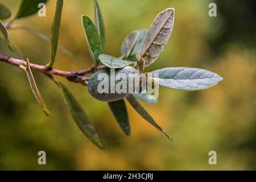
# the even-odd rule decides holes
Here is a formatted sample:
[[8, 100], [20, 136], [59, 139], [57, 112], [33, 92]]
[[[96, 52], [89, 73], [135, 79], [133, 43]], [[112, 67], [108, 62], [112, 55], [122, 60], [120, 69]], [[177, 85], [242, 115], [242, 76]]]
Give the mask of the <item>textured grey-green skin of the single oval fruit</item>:
[[[90, 80], [88, 82], [88, 92], [89, 94], [94, 97], [95, 99], [102, 101], [102, 102], [113, 102], [113, 101], [117, 101], [117, 100], [121, 100], [122, 98], [125, 98], [127, 96], [128, 93], [128, 79], [129, 79], [129, 74], [133, 73], [133, 74], [138, 74], [137, 69], [135, 69], [134, 67], [130, 67], [127, 66], [125, 68], [122, 69], [112, 69], [112, 72], [115, 71], [115, 77], [118, 74], [124, 74], [126, 75], [126, 79], [127, 79], [127, 92], [126, 93], [117, 93], [116, 90], [114, 90], [114, 93], [110, 93], [110, 82], [113, 81], [115, 82], [115, 86], [118, 84], [118, 82], [120, 82], [121, 80], [116, 80], [114, 77], [110, 77], [110, 69], [106, 68], [106, 69], [102, 69], [96, 73], [94, 73], [91, 77]], [[100, 74], [106, 74], [108, 75], [108, 85], [109, 85], [109, 92], [108, 93], [99, 93], [98, 92], [98, 84], [102, 84], [102, 80], [98, 80], [98, 76]], [[113, 80], [111, 80], [113, 79]], [[113, 87], [112, 87], [113, 89]]]

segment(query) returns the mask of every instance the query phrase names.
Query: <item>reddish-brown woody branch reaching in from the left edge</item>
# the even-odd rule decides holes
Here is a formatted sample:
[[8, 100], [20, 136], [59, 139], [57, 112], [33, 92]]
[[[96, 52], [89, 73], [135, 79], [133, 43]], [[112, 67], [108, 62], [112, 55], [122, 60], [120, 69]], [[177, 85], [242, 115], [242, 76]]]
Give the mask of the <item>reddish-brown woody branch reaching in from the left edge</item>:
[[[23, 65], [24, 67], [26, 67], [27, 62], [24, 60], [20, 60], [20, 59], [15, 59], [13, 57], [9, 57], [6, 55], [3, 55], [2, 53], [0, 53], [0, 61], [3, 61], [5, 63], [9, 63], [12, 65], [15, 65], [16, 67], [19, 67], [20, 65]], [[105, 65], [103, 66], [99, 66], [96, 69], [94, 67], [92, 68], [88, 68], [79, 72], [74, 72], [74, 71], [61, 71], [59, 69], [47, 69], [46, 66], [44, 65], [39, 65], [39, 64], [30, 64], [30, 68], [34, 69], [35, 71], [44, 73], [46, 75], [57, 75], [57, 76], [61, 76], [61, 77], [65, 77], [67, 78], [67, 80], [71, 81], [71, 82], [76, 82], [82, 85], [86, 85], [86, 82], [89, 81], [89, 77], [83, 77], [83, 75], [86, 75], [88, 73], [94, 73], [96, 72], [98, 69], [104, 69], [106, 68]]]

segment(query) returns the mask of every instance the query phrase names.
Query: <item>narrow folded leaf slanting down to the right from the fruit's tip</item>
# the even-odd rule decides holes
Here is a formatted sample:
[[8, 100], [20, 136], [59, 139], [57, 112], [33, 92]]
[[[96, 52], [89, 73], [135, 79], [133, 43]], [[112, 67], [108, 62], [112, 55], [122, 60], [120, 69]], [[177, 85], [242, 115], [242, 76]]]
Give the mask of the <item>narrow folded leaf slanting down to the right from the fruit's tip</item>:
[[126, 99], [131, 104], [131, 106], [133, 106], [133, 108], [137, 111], [137, 113], [141, 115], [141, 117], [143, 117], [151, 125], [155, 126], [156, 129], [160, 130], [164, 135], [166, 135], [168, 139], [172, 140], [172, 137], [154, 121], [150, 114], [148, 114], [147, 110], [141, 105], [141, 103], [137, 101], [137, 99], [132, 94], [127, 95]]

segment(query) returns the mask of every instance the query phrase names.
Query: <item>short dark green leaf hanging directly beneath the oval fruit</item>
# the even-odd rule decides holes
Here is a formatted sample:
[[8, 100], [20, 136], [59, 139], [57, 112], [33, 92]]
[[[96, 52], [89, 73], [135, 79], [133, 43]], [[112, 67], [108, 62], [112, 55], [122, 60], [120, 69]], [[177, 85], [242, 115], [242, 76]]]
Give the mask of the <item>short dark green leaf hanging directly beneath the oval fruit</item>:
[[124, 100], [118, 100], [114, 102], [108, 102], [115, 119], [119, 123], [121, 129], [125, 132], [127, 136], [131, 134], [129, 118], [127, 114], [127, 109]]

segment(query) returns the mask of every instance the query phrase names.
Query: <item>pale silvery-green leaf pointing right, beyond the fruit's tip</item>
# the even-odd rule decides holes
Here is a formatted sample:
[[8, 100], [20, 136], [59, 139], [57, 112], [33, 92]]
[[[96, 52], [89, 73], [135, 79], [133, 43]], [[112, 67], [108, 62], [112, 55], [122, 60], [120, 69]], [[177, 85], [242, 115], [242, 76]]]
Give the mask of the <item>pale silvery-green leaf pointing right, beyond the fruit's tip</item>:
[[159, 78], [155, 78], [159, 85], [177, 90], [193, 91], [208, 89], [223, 80], [216, 73], [200, 68], [163, 68], [151, 72], [152, 76], [155, 73], [159, 74]]

